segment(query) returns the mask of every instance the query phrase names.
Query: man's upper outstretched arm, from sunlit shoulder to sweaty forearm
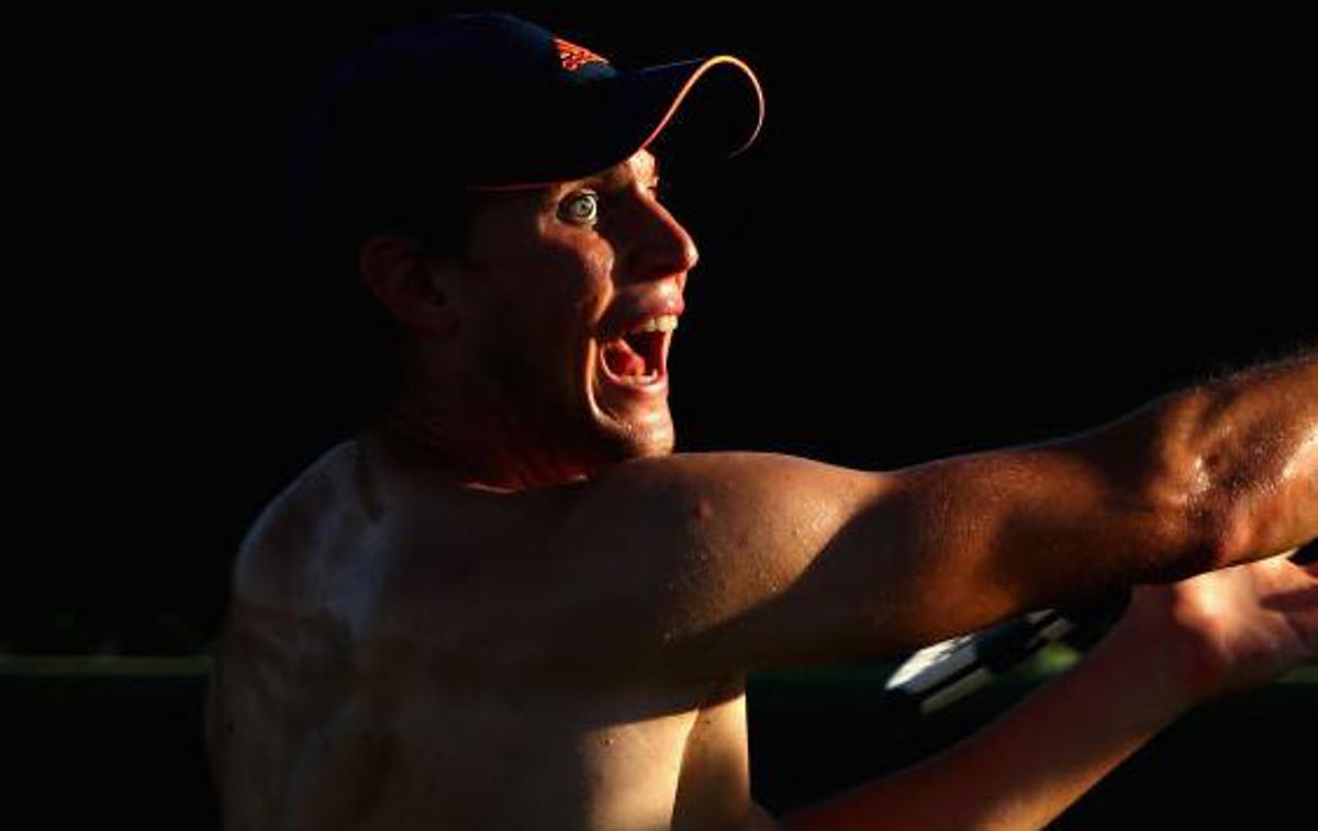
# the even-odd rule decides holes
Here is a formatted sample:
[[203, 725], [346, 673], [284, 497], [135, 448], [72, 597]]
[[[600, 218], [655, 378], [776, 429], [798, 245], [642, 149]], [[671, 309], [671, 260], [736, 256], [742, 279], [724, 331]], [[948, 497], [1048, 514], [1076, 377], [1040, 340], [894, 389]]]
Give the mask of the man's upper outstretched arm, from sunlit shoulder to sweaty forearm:
[[896, 471], [764, 453], [617, 465], [547, 496], [565, 503], [539, 511], [561, 518], [554, 553], [525, 568], [552, 564], [588, 610], [575, 655], [722, 677], [909, 652], [1263, 558], [1318, 536], [1315, 489], [1310, 353], [1081, 435]]

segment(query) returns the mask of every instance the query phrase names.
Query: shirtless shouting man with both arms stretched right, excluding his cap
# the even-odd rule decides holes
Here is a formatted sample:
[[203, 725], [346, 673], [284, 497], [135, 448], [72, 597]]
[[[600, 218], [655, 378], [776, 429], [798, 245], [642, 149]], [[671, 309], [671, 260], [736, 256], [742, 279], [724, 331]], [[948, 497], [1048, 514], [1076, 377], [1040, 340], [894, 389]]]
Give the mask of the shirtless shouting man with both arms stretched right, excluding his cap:
[[[464, 61], [554, 42], [476, 20], [428, 37], [463, 28]], [[650, 128], [691, 90], [664, 83]], [[463, 141], [497, 144], [482, 119], [506, 115], [463, 120]], [[464, 155], [482, 190], [457, 246], [353, 240], [399, 382], [243, 543], [207, 699], [225, 827], [772, 827], [749, 788], [747, 672], [1252, 562], [1141, 589], [1004, 720], [788, 820], [1036, 827], [1195, 701], [1313, 657], [1318, 570], [1285, 558], [1318, 536], [1313, 354], [896, 471], [675, 454], [664, 358], [696, 246], [654, 192], [655, 130], [572, 124], [633, 144], [502, 180]]]

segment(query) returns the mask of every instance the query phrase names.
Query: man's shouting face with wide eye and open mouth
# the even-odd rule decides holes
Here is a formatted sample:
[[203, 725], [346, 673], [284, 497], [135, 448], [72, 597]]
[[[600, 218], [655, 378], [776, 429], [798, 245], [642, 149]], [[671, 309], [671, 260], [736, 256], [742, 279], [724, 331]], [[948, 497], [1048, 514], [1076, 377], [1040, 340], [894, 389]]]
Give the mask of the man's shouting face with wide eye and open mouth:
[[587, 469], [672, 452], [667, 356], [696, 246], [641, 151], [493, 194], [472, 229], [471, 356], [514, 435]]

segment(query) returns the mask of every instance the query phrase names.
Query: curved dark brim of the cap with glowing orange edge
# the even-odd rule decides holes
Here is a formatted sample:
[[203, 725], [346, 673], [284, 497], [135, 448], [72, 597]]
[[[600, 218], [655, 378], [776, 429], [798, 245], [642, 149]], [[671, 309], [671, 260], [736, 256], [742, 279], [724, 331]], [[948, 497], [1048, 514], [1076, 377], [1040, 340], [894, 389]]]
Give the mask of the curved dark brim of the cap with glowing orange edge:
[[[619, 71], [592, 84], [580, 112], [565, 113], [542, 147], [543, 166], [473, 190], [546, 187], [585, 178], [681, 136], [684, 151], [726, 154], [750, 147], [764, 122], [764, 94], [751, 68], [731, 55]], [[693, 95], [695, 92], [695, 95]], [[565, 129], [564, 129], [565, 126]]]

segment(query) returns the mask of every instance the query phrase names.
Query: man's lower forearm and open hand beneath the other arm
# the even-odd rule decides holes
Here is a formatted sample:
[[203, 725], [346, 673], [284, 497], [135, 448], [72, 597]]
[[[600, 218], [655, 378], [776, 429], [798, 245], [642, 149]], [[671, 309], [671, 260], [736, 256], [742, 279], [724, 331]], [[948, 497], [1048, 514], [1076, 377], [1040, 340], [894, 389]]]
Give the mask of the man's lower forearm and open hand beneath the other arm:
[[791, 828], [1041, 828], [1186, 709], [1318, 656], [1318, 564], [1286, 556], [1136, 590], [1081, 665], [915, 768]]

